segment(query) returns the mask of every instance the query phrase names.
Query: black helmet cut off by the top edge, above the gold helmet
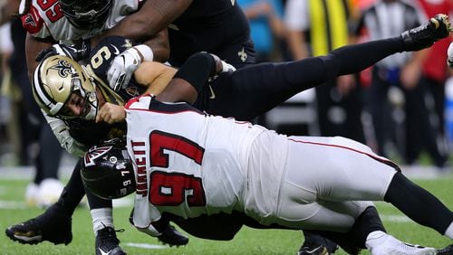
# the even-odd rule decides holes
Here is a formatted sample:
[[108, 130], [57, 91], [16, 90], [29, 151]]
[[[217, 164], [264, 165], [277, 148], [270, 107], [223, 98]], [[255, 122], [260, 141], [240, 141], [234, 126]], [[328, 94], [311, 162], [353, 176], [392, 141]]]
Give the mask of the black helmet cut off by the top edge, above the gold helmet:
[[79, 29], [91, 30], [105, 23], [111, 0], [60, 0], [63, 14]]

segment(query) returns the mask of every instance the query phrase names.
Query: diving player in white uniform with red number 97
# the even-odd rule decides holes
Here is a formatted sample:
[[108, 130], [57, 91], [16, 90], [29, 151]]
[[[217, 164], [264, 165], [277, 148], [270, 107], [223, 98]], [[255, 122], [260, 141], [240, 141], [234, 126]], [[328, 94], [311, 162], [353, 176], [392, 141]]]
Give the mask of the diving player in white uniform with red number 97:
[[[181, 86], [188, 93], [181, 100], [192, 102], [197, 91]], [[111, 147], [94, 149], [85, 156], [82, 179], [104, 198], [135, 192], [132, 222], [139, 231], [152, 235], [151, 222], [162, 213], [191, 218], [236, 211], [264, 225], [345, 232], [372, 200], [391, 203], [453, 239], [453, 213], [443, 203], [410, 182], [398, 165], [351, 139], [286, 137], [152, 95], [131, 99], [125, 108], [106, 106], [110, 114], [101, 109], [102, 119], [126, 119], [130, 160], [121, 160], [121, 152], [110, 155]], [[97, 159], [104, 166], [120, 160], [111, 171], [97, 172], [90, 169]], [[107, 181], [114, 184], [107, 187]], [[361, 245], [380, 255], [453, 252], [453, 245], [442, 250], [409, 245], [384, 231], [369, 232]]]

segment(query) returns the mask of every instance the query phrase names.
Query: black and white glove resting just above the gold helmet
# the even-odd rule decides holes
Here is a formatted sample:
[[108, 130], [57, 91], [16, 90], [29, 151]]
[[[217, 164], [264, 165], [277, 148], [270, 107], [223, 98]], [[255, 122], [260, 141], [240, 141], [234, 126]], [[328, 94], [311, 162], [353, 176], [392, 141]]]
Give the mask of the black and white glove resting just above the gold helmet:
[[70, 57], [74, 61], [81, 61], [90, 55], [91, 46], [89, 41], [82, 41], [80, 45], [53, 44], [52, 47], [39, 52], [34, 58], [35, 61], [43, 61], [53, 55]]

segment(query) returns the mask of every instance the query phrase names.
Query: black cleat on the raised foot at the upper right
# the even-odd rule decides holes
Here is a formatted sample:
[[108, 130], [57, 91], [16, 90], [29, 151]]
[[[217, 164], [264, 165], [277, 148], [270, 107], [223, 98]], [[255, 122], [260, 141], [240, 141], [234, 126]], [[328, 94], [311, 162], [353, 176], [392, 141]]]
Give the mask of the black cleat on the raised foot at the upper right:
[[451, 31], [448, 15], [437, 14], [430, 18], [429, 22], [401, 33], [401, 37], [406, 51], [419, 51], [439, 39], [448, 37]]

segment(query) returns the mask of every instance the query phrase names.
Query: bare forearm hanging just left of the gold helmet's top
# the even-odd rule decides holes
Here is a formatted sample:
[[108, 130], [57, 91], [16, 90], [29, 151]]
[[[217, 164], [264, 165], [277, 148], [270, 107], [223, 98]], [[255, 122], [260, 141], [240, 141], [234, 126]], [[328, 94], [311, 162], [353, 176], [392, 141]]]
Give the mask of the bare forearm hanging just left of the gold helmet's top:
[[25, 57], [27, 61], [28, 77], [33, 80], [34, 70], [38, 66], [38, 62], [35, 61], [36, 55], [49, 47], [52, 47], [53, 43], [56, 43], [52, 39], [37, 39], [34, 38], [30, 33], [26, 34], [25, 37]]

